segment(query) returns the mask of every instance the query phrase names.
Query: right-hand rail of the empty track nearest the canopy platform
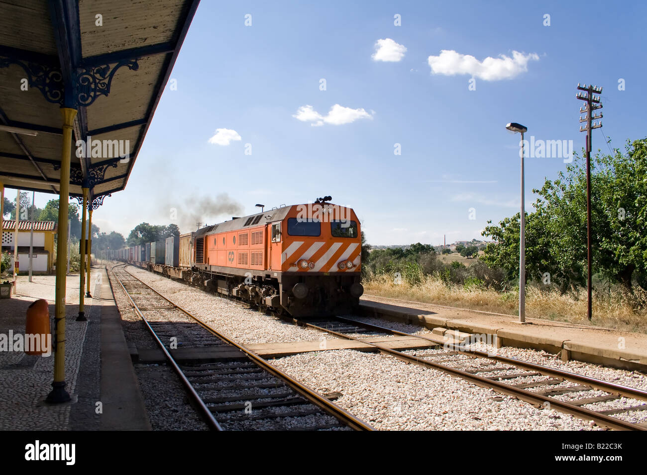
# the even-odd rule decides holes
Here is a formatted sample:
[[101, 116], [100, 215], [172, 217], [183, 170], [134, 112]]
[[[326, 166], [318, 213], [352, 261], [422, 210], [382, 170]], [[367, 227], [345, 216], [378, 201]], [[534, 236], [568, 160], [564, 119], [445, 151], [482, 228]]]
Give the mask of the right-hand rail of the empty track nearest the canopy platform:
[[[126, 265], [130, 265], [130, 264], [118, 264], [118, 265], [126, 266]], [[357, 417], [353, 416], [353, 414], [350, 414], [349, 412], [347, 412], [346, 410], [344, 410], [340, 406], [334, 404], [333, 402], [329, 401], [325, 397], [321, 396], [320, 394], [318, 394], [313, 389], [309, 388], [306, 385], [303, 385], [303, 383], [300, 383], [299, 381], [296, 381], [296, 379], [294, 379], [290, 375], [282, 372], [281, 370], [279, 370], [275, 366], [272, 366], [272, 364], [267, 363], [267, 361], [265, 361], [259, 355], [255, 354], [254, 352], [249, 350], [244, 345], [236, 343], [236, 341], [230, 339], [224, 333], [218, 332], [217, 330], [212, 328], [212, 326], [210, 326], [208, 323], [206, 323], [206, 322], [202, 321], [201, 319], [199, 319], [199, 317], [196, 317], [195, 315], [193, 315], [189, 311], [184, 310], [184, 308], [182, 308], [181, 306], [179, 306], [175, 302], [171, 301], [171, 299], [169, 299], [165, 295], [162, 295], [162, 293], [160, 293], [159, 291], [155, 290], [154, 288], [152, 288], [151, 286], [146, 284], [146, 282], [139, 279], [136, 275], [133, 275], [132, 273], [127, 271], [126, 268], [124, 268], [124, 272], [126, 272], [127, 274], [129, 274], [132, 277], [134, 277], [135, 279], [137, 279], [139, 282], [144, 284], [144, 286], [148, 287], [153, 292], [157, 293], [157, 295], [162, 297], [162, 299], [164, 299], [165, 301], [169, 302], [171, 305], [173, 305], [175, 308], [177, 308], [177, 310], [181, 311], [182, 313], [184, 313], [188, 317], [191, 317], [193, 320], [195, 320], [198, 324], [203, 326], [203, 328], [205, 328], [206, 330], [211, 332], [213, 335], [215, 335], [219, 339], [225, 341], [226, 343], [236, 347], [238, 350], [240, 350], [245, 355], [247, 355], [248, 358], [250, 358], [252, 361], [254, 361], [254, 363], [261, 366], [261, 368], [263, 368], [264, 370], [266, 370], [270, 374], [273, 374], [274, 376], [276, 376], [276, 377], [278, 377], [280, 379], [283, 379], [283, 381], [285, 381], [285, 383], [287, 383], [287, 385], [290, 386], [294, 391], [298, 392], [298, 394], [301, 394], [303, 397], [308, 399], [308, 401], [310, 401], [314, 405], [318, 406], [320, 409], [322, 409], [327, 414], [331, 414], [332, 416], [336, 417], [337, 419], [340, 419], [340, 421], [345, 423], [345, 425], [347, 425], [348, 427], [351, 427], [351, 428], [353, 428], [355, 430], [375, 430], [375, 428], [371, 427], [370, 425], [366, 424], [361, 419], [358, 419]], [[122, 287], [123, 287], [123, 285], [122, 285]], [[131, 299], [131, 301], [132, 301], [132, 299]]]

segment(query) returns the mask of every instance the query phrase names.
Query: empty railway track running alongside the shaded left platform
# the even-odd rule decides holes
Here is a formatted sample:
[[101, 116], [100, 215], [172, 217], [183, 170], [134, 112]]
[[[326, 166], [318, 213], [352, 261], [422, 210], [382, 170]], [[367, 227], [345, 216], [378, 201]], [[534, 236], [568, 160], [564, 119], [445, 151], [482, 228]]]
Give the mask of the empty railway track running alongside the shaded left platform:
[[210, 428], [373, 430], [137, 279], [126, 265], [114, 266], [113, 274]]

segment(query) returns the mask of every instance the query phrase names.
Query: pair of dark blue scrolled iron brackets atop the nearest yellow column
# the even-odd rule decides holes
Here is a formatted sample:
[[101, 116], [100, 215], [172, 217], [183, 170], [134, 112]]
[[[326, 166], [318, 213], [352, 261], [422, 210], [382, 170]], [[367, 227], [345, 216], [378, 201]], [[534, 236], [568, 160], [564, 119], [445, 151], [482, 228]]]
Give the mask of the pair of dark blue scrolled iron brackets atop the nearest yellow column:
[[[63, 105], [65, 84], [63, 83], [63, 74], [59, 67], [0, 56], [0, 69], [12, 64], [18, 65], [25, 71], [29, 86], [36, 87], [36, 89], [40, 90], [45, 100], [54, 104]], [[133, 71], [139, 69], [137, 58], [124, 59], [114, 66], [106, 64], [100, 66], [81, 66], [78, 68], [76, 74], [74, 74], [74, 78], [72, 78], [71, 85], [74, 88], [73, 98], [76, 107], [87, 107], [99, 96], [108, 96], [115, 73], [122, 66], [126, 66]]]

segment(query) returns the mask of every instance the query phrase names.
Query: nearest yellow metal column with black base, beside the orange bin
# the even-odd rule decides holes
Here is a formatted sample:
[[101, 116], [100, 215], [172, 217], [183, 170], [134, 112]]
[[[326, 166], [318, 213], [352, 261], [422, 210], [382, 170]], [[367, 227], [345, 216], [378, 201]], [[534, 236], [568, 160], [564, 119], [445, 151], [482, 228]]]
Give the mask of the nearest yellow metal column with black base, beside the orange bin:
[[[61, 182], [58, 200], [58, 241], [56, 242], [56, 306], [54, 353], [54, 382], [47, 395], [49, 403], [65, 403], [71, 399], [65, 390], [65, 266], [67, 264], [67, 223], [68, 201], [70, 199], [70, 161], [72, 153], [72, 121], [76, 109], [61, 107], [63, 115], [63, 146], [61, 147]], [[83, 291], [80, 289], [79, 291]]]

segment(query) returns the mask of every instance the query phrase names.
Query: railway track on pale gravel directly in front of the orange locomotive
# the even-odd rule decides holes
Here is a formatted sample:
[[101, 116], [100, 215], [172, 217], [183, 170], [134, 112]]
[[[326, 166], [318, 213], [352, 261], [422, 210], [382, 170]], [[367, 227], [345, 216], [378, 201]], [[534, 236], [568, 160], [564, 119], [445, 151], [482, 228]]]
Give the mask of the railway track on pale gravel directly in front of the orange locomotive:
[[[435, 368], [461, 377], [470, 383], [492, 388], [542, 408], [553, 408], [585, 420], [595, 421], [601, 427], [616, 430], [647, 430], [647, 421], [631, 423], [619, 417], [613, 417], [627, 412], [646, 411], [647, 403], [644, 401], [647, 401], [647, 392], [642, 390], [514, 358], [477, 350], [466, 350], [460, 344], [447, 344], [442, 339], [410, 335], [410, 333], [398, 332], [344, 317], [309, 319], [308, 321], [287, 317], [286, 320], [330, 333], [342, 339], [370, 344], [382, 354], [393, 355], [406, 363]], [[408, 335], [421, 338], [428, 340], [430, 347], [443, 345], [444, 351], [410, 350], [403, 352], [393, 350], [380, 343], [367, 340], [367, 337], [376, 335]], [[585, 393], [590, 391], [603, 394], [587, 397]], [[558, 399], [558, 396], [565, 396], [569, 399]], [[584, 407], [609, 401], [620, 401], [622, 405], [604, 410], [592, 410]]]

